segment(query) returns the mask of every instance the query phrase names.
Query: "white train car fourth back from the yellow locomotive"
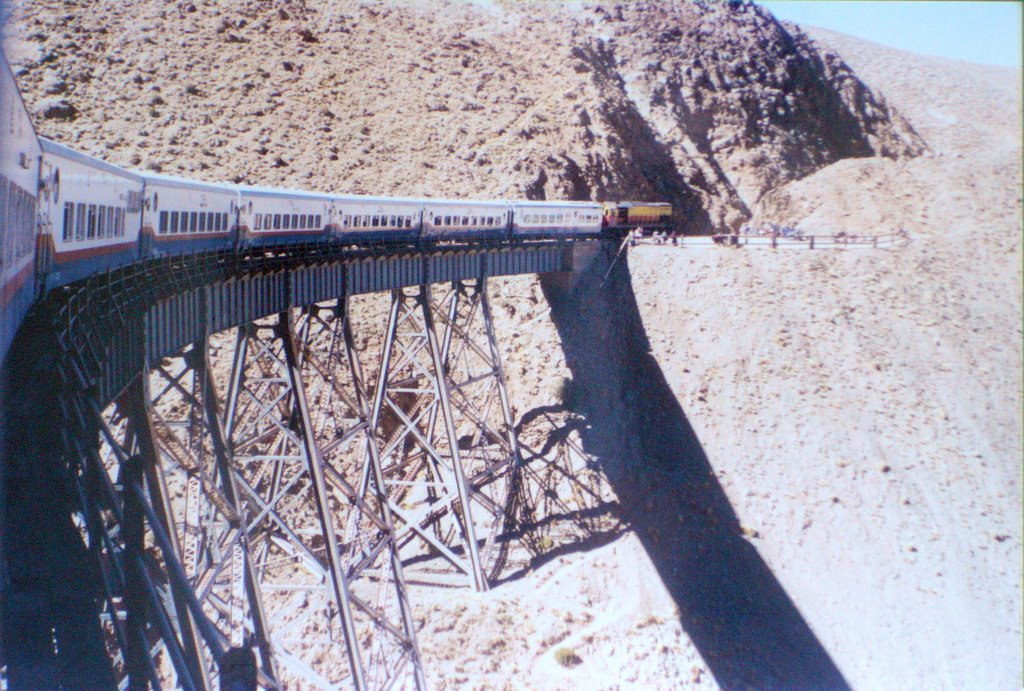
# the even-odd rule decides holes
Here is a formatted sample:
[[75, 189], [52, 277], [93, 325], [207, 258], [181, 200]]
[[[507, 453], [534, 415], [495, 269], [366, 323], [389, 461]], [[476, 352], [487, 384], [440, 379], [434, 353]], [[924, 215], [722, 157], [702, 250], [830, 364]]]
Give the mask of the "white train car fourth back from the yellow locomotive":
[[327, 240], [337, 227], [337, 204], [323, 192], [239, 187], [239, 225], [247, 246]]

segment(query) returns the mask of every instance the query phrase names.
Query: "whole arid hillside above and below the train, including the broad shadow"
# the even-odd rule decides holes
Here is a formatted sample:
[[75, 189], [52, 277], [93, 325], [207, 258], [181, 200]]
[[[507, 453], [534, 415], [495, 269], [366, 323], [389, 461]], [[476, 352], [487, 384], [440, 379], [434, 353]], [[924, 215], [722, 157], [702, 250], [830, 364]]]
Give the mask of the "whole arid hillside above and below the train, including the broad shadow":
[[123, 165], [906, 229], [492, 282], [529, 443], [570, 436], [592, 493], [490, 592], [415, 589], [427, 674], [1020, 685], [1020, 71], [745, 3], [38, 0], [9, 32], [40, 133]]

